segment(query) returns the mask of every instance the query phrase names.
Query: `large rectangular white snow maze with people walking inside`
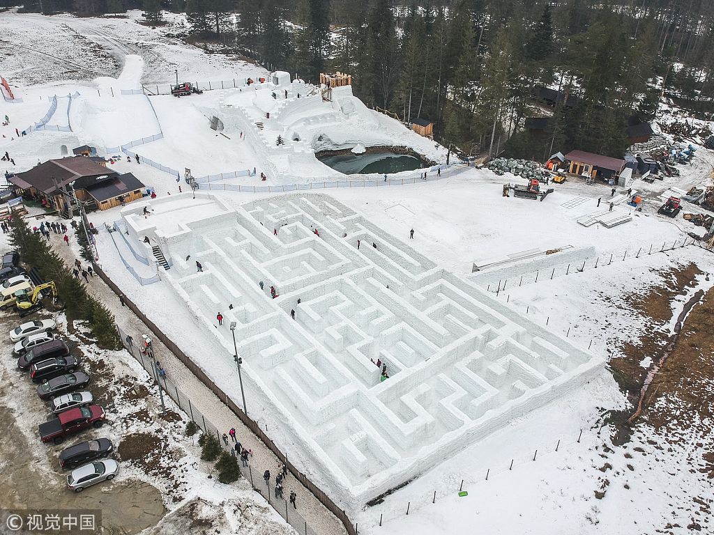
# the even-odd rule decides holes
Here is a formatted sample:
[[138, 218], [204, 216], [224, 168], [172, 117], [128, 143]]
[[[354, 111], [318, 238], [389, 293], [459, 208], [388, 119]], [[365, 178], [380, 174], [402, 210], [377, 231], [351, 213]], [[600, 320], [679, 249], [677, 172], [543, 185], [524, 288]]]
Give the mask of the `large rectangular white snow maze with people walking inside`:
[[149, 219], [125, 209], [131, 234], [161, 243], [174, 263], [161, 277], [231, 364], [228, 325], [237, 322], [248, 405], [268, 407], [308, 473], [356, 506], [578, 387], [603, 363], [328, 195], [236, 208], [204, 194], [171, 199], [151, 203]]

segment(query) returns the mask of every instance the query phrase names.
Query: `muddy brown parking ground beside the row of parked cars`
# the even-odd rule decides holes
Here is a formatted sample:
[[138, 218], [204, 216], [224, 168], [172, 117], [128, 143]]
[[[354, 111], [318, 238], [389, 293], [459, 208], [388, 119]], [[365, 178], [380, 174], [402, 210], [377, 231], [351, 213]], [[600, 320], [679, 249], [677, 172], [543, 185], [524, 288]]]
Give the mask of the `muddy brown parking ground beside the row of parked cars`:
[[[11, 324], [16, 324], [14, 316], [0, 318], [0, 332], [9, 331]], [[68, 472], [59, 468], [57, 454], [70, 444], [106, 436], [117, 422], [113, 422], [108, 413], [110, 422], [101, 429], [83, 432], [60, 446], [42, 444], [36, 436], [36, 424], [44, 421], [49, 411], [34, 394], [36, 385], [16, 369], [9, 340], [3, 338], [0, 345], [3, 358], [0, 366], [0, 467], [3, 476], [0, 509], [101, 509], [104, 533], [111, 534], [132, 535], [156, 525], [166, 509], [159, 489], [144, 481], [131, 478], [98, 484], [80, 494], [66, 489]], [[85, 362], [89, 365], [89, 360]], [[91, 372], [99, 371], [97, 365], [88, 367], [95, 368]], [[109, 392], [102, 383], [110, 380], [108, 377], [98, 381], [96, 388], [90, 385], [99, 402], [107, 405], [111, 405], [106, 403]], [[116, 447], [116, 440], [114, 443]]]

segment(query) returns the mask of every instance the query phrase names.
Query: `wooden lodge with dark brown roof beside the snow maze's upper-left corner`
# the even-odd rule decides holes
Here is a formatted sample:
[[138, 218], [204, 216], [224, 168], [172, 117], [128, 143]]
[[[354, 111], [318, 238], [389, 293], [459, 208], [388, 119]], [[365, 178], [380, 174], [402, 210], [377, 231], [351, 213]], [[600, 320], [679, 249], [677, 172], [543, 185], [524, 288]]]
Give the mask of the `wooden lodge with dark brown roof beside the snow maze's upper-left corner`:
[[48, 160], [8, 180], [46, 208], [56, 208], [61, 213], [73, 204], [74, 195], [106, 210], [140, 199], [144, 188], [131, 173], [120, 175], [108, 170], [104, 158], [86, 156]]

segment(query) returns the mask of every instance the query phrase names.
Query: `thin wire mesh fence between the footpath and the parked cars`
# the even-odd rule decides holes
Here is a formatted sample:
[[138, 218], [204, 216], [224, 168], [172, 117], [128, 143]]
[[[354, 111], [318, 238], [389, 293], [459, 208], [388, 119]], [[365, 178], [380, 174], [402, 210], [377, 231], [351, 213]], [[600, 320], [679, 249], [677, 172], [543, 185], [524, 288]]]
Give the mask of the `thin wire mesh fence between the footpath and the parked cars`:
[[[126, 297], [124, 300], [127, 304], [129, 304]], [[231, 455], [235, 455], [235, 450], [230, 446], [232, 442], [228, 442], [229, 446], [226, 447], [226, 444], [221, 441], [221, 432], [218, 430], [218, 427], [216, 427], [210, 419], [206, 418], [205, 414], [193, 406], [191, 398], [178, 389], [176, 383], [171, 381], [171, 379], [159, 376], [154, 357], [141, 352], [141, 349], [137, 347], [135, 343], [135, 341], [139, 342], [139, 340], [141, 340], [140, 335], [135, 333], [135, 336], [131, 336], [126, 331], [122, 330], [119, 325], [116, 326], [116, 330], [119, 332], [121, 343], [124, 344], [126, 350], [129, 351], [129, 353], [131, 353], [131, 355], [141, 363], [144, 370], [146, 370], [146, 372], [154, 378], [154, 382], [156, 382], [157, 387], [161, 388], [174, 401], [174, 403], [176, 403], [178, 408], [185, 412], [188, 417], [190, 417], [191, 420], [203, 430], [204, 433], [215, 435], [221, 449], [229, 452]], [[256, 471], [258, 473], [253, 474], [251, 464], [248, 464], [247, 468], [247, 471], [245, 467], [241, 468], [243, 477], [251, 482], [253, 489], [265, 497], [265, 499], [268, 500], [268, 503], [273, 506], [273, 509], [275, 509], [278, 514], [280, 514], [280, 516], [288, 522], [288, 524], [293, 526], [298, 534], [318, 535], [311, 526], [308, 526], [307, 521], [300, 513], [298, 513], [294, 506], [290, 505], [288, 500], [286, 500], [283, 496], [275, 494], [273, 481], [266, 481], [263, 479], [263, 474], [259, 471]]]

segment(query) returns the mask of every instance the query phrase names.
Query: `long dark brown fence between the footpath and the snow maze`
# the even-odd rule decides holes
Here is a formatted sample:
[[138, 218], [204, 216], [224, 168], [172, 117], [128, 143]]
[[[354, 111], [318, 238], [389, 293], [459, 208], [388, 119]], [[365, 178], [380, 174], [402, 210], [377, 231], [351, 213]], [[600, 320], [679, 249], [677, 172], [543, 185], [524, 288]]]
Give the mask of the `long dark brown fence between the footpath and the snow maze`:
[[[116, 293], [116, 295], [124, 295], [124, 293], [121, 292], [119, 287], [116, 284], [114, 284], [114, 281], [112, 281], [106, 275], [104, 270], [102, 270], [101, 267], [99, 267], [99, 265], [96, 265], [96, 263], [93, 263], [93, 264], [94, 264], [94, 269], [96, 270], [96, 273], [99, 275], [99, 277], [101, 277], [101, 280], [104, 280], [104, 282], [106, 282], [106, 284], [109, 285], [111, 290], [113, 290], [114, 293]], [[337, 517], [337, 519], [342, 522], [348, 535], [357, 535], [356, 528], [351, 523], [346, 512], [343, 509], [340, 509], [337, 506], [337, 504], [335, 504], [335, 502], [332, 501], [330, 496], [328, 496], [325, 492], [323, 492], [316, 484], [314, 484], [310, 479], [308, 479], [308, 477], [305, 474], [300, 472], [291, 462], [288, 461], [288, 457], [285, 454], [283, 454], [283, 452], [281, 452], [280, 449], [278, 449], [276, 444], [263, 432], [263, 430], [261, 429], [261, 427], [258, 425], [257, 422], [254, 422], [240, 408], [238, 408], [238, 406], [233, 402], [233, 400], [230, 397], [228, 397], [228, 394], [226, 394], [226, 392], [223, 392], [223, 390], [220, 387], [218, 387], [218, 385], [216, 385], [213, 381], [211, 381], [211, 379], [208, 378], [206, 373], [203, 372], [203, 370], [201, 370], [201, 367], [198, 367], [198, 365], [196, 365], [196, 363], [193, 362], [193, 360], [188, 358], [188, 356], [181, 350], [180, 347], [178, 347], [176, 344], [174, 344], [174, 342], [171, 339], [169, 339], [169, 337], [167, 337], [164, 334], [164, 332], [159, 330], [159, 327], [157, 327], [156, 324], [154, 324], [154, 322], [149, 320], [149, 318], [146, 317], [146, 315], [144, 315], [144, 312], [141, 312], [141, 310], [139, 310], [139, 307], [137, 307], [134, 304], [134, 302], [132, 302], [128, 297], [124, 296], [124, 303], [126, 304], [127, 307], [129, 307], [129, 309], [132, 312], [134, 312], [134, 314], [136, 314], [137, 317], [139, 317], [139, 319], [142, 322], [144, 322], [144, 325], [146, 325], [146, 327], [154, 334], [154, 336], [156, 338], [158, 338], [159, 340], [161, 340], [161, 342], [166, 346], [166, 348], [169, 351], [171, 351], [171, 353], [173, 353], [176, 356], [176, 358], [178, 360], [180, 360], [181, 363], [188, 368], [188, 370], [191, 370], [193, 375], [196, 376], [196, 378], [198, 380], [200, 380], [204, 385], [206, 385], [206, 387], [208, 387], [208, 389], [210, 389], [211, 392], [213, 392], [213, 394], [216, 394], [216, 397], [218, 397], [218, 399], [221, 399], [221, 401], [224, 402], [228, 406], [229, 409], [231, 409], [233, 414], [235, 414], [236, 417], [238, 417], [238, 419], [240, 419], [241, 422], [243, 422], [243, 425], [248, 427], [248, 429], [250, 429], [251, 432], [253, 432], [253, 434], [255, 434], [256, 437], [258, 437], [258, 439], [260, 439], [261, 442], [263, 442], [263, 444], [265, 444], [266, 447], [268, 449], [270, 449], [271, 452], [273, 452], [273, 454], [276, 457], [278, 457], [278, 459], [281, 459], [281, 461], [286, 464], [288, 471], [293, 475], [293, 477], [295, 477], [298, 481], [300, 481], [300, 483], [306, 489], [308, 489], [308, 491], [310, 491], [311, 494], [313, 494], [318, 499], [318, 501], [320, 501], [320, 503], [323, 504], [323, 506], [325, 506], [326, 509], [328, 509], [328, 511], [330, 511], [332, 514], [334, 514]], [[196, 422], [196, 423], [198, 423], [198, 422]], [[250, 474], [251, 474], [251, 472], [249, 472], [249, 475]], [[258, 482], [258, 484], [260, 484], [260, 483]], [[257, 490], [260, 491], [261, 489], [257, 488]], [[282, 514], [282, 511], [278, 511], [278, 512], [280, 512]], [[297, 515], [296, 512], [294, 514], [291, 513], [291, 514], [287, 515], [288, 522], [290, 522], [291, 525], [293, 525], [293, 527], [295, 526], [295, 524], [293, 524], [293, 521], [296, 521], [296, 519], [298, 518], [295, 515]], [[283, 518], [286, 518], [286, 516], [283, 516]], [[293, 521], [291, 521], [290, 518], [292, 518]], [[314, 533], [314, 531], [308, 531], [308, 530], [310, 530], [310, 526], [307, 526], [307, 524], [305, 524], [303, 526], [303, 529], [305, 530], [306, 534], [308, 534], [308, 535], [311, 533]]]

